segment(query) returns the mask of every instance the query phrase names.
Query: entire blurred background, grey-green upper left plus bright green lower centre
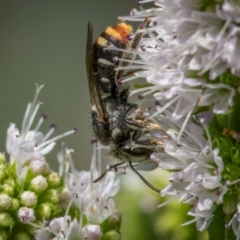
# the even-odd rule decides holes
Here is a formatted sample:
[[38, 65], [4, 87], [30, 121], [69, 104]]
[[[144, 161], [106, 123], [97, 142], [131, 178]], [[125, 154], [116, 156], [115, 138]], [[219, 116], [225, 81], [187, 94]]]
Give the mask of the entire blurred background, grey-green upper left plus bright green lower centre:
[[[93, 23], [96, 37], [106, 26], [115, 24], [117, 16], [137, 7], [135, 0], [1, 0], [1, 151], [5, 151], [10, 122], [21, 127], [35, 83], [44, 84], [39, 115], [45, 113], [47, 120], [41, 130], [46, 132], [54, 123], [57, 135], [77, 127], [77, 134], [64, 141], [75, 150], [73, 159], [77, 168], [89, 169], [92, 130], [87, 116], [90, 109], [85, 73], [87, 23]], [[58, 150], [56, 146], [47, 156], [55, 170]], [[164, 178], [159, 171], [145, 175], [156, 186], [166, 184], [156, 180]], [[206, 235], [196, 233], [195, 224], [179, 226], [186, 221], [186, 206], [174, 203], [156, 209], [163, 199], [136, 175], [129, 173], [122, 177], [122, 182], [116, 205], [123, 213], [123, 240], [205, 239]]]

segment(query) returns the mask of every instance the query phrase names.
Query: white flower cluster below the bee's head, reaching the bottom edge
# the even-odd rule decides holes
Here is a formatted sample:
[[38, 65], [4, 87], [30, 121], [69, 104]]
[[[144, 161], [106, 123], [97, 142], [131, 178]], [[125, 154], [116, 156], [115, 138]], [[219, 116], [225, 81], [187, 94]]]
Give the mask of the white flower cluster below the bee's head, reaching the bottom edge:
[[[109, 172], [101, 182], [93, 183], [93, 179], [100, 174], [96, 168], [96, 146], [91, 171], [88, 172], [75, 169], [71, 152], [72, 150], [65, 148], [58, 154], [60, 165], [64, 159], [68, 160], [72, 171], [66, 173], [66, 188], [60, 198], [61, 204], [66, 207], [66, 215], [53, 219], [46, 228], [37, 231], [36, 239], [100, 240], [103, 236], [100, 224], [111, 214], [115, 214], [115, 204], [111, 197], [119, 190], [119, 179], [116, 179], [114, 172]], [[68, 216], [72, 205], [80, 212], [79, 221]], [[87, 221], [84, 226], [83, 219]]]

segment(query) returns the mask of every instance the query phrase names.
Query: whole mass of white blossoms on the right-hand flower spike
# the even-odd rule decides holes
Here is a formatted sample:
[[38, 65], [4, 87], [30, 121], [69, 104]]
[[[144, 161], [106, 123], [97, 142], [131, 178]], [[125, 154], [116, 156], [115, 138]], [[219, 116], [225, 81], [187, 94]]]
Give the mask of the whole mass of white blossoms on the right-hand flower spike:
[[[219, 149], [212, 148], [208, 117], [196, 124], [193, 113], [208, 107], [211, 114], [226, 114], [234, 105], [240, 76], [240, 3], [139, 1], [146, 2], [154, 2], [156, 7], [134, 9], [120, 18], [149, 19], [149, 27], [141, 30], [145, 36], [138, 51], [140, 58], [128, 70], [139, 67], [135, 78], [152, 84], [134, 93], [142, 91], [141, 97], [154, 93], [158, 106], [152, 117], [169, 136], [152, 155], [162, 169], [174, 170], [161, 194], [189, 203], [188, 214], [194, 219], [188, 223], [196, 222], [202, 231], [211, 223], [216, 206], [223, 203], [228, 185], [222, 179], [224, 162]], [[131, 79], [126, 77], [123, 82]], [[238, 218], [239, 210], [229, 224], [240, 237]]]

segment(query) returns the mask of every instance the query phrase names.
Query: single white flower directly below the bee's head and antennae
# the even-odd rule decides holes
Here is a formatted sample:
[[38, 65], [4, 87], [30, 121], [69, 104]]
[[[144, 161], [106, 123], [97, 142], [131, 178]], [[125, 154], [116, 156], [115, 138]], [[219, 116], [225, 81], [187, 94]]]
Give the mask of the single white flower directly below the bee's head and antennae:
[[119, 179], [114, 172], [108, 172], [97, 183], [93, 183], [101, 173], [96, 168], [96, 149], [94, 149], [91, 171], [77, 171], [73, 166], [71, 151], [66, 153], [72, 173], [66, 175], [67, 189], [76, 207], [85, 214], [87, 221], [100, 224], [115, 210], [113, 197], [119, 190]]

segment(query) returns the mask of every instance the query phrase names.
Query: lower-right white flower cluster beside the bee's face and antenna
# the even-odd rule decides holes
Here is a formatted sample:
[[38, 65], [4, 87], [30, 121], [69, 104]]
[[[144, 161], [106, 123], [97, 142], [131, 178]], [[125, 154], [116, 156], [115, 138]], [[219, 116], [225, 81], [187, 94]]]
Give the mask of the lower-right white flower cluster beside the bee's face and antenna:
[[[171, 121], [170, 115], [162, 118], [159, 117], [160, 122]], [[161, 191], [161, 195], [190, 204], [188, 215], [194, 219], [185, 224], [196, 222], [197, 229], [203, 231], [211, 223], [215, 205], [223, 202], [228, 190], [222, 183], [223, 161], [219, 149], [212, 149], [210, 139], [207, 141], [204, 138], [201, 126], [189, 123], [181, 140], [177, 128], [176, 124], [174, 130], [169, 128], [169, 139], [164, 142], [163, 151], [152, 155], [162, 169], [175, 170], [169, 176], [170, 184]]]

